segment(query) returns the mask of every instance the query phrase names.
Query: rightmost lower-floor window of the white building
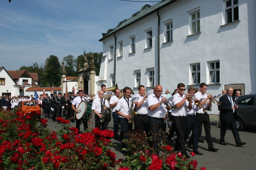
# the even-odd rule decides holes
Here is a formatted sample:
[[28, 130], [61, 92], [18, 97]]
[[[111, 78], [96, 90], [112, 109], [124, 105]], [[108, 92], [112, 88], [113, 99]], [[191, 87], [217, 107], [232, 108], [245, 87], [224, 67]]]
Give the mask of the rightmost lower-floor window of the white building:
[[[218, 63], [218, 64], [217, 64]], [[214, 68], [211, 68], [211, 65], [214, 64]], [[219, 68], [217, 68], [219, 65]], [[220, 61], [211, 61], [208, 62], [209, 70], [209, 84], [220, 84]], [[218, 77], [218, 79], [217, 79]]]

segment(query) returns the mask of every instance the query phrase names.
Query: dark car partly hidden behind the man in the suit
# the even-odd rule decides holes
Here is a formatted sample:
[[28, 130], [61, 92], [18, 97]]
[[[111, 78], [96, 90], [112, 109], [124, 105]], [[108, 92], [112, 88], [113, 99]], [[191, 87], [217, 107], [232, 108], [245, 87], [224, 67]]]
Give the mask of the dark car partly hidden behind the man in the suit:
[[236, 104], [238, 130], [242, 130], [244, 126], [256, 127], [256, 94], [241, 95], [236, 99]]

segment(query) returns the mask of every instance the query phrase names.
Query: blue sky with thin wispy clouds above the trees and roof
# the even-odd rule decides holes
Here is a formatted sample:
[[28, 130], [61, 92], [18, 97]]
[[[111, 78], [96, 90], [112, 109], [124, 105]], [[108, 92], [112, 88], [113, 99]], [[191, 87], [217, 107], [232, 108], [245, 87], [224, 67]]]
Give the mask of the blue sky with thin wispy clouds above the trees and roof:
[[[145, 0], [155, 1], [155, 0]], [[50, 55], [102, 52], [102, 33], [115, 28], [145, 4], [120, 0], [0, 1], [0, 66], [16, 70]]]

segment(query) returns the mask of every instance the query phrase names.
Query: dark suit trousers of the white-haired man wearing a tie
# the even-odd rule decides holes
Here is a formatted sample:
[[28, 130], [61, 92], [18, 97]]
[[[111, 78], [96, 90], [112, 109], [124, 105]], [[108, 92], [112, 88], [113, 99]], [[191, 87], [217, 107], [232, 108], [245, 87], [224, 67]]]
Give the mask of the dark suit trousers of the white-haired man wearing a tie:
[[230, 125], [231, 131], [232, 131], [233, 136], [235, 138], [235, 142], [240, 143], [241, 139], [239, 137], [239, 133], [238, 133], [237, 126], [236, 126], [236, 120], [235, 120], [234, 116], [233, 116], [230, 123], [226, 123], [226, 122], [221, 121], [221, 139], [220, 139], [220, 142], [225, 142], [225, 134], [227, 132], [227, 125]]

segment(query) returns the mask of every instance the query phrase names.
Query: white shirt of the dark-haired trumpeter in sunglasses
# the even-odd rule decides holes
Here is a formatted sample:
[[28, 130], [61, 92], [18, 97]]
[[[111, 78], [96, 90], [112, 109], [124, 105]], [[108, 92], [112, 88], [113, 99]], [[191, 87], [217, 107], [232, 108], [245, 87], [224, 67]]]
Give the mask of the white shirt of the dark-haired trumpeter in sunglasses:
[[[184, 98], [185, 95], [183, 94], [182, 96], [179, 93], [176, 93], [173, 95], [174, 98], [172, 100], [172, 104], [175, 106], [175, 104], [181, 102]], [[187, 106], [188, 106], [188, 101], [186, 100], [185, 103], [180, 107], [180, 108], [175, 108], [172, 110], [172, 116], [187, 116]]]

